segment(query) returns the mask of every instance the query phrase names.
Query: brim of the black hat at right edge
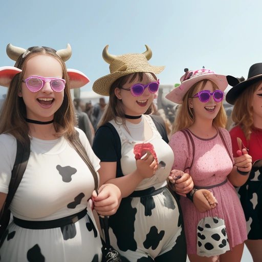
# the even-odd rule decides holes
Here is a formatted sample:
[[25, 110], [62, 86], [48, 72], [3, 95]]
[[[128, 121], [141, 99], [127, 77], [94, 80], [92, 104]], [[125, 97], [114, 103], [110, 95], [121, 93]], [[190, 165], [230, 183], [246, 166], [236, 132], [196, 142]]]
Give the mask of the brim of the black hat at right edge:
[[248, 78], [245, 81], [239, 82], [227, 92], [226, 101], [229, 104], [234, 104], [236, 99], [248, 88], [248, 86], [259, 80], [262, 80], [262, 74]]

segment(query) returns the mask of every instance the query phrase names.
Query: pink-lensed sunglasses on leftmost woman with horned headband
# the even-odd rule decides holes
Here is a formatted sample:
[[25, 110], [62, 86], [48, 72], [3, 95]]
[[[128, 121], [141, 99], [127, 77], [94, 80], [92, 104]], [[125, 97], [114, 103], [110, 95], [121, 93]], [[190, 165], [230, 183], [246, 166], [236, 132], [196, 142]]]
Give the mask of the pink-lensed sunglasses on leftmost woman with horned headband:
[[55, 92], [63, 91], [65, 86], [65, 80], [59, 77], [30, 76], [27, 79], [23, 79], [22, 82], [26, 83], [27, 88], [31, 92], [41, 90], [46, 82], [50, 82], [50, 86]]

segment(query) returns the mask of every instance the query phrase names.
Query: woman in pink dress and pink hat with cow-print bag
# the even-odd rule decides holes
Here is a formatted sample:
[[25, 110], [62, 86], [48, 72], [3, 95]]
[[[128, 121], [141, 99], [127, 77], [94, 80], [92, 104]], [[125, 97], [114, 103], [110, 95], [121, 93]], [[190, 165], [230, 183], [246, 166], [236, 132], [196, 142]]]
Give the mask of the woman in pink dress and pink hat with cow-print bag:
[[[245, 216], [234, 190], [243, 185], [251, 170], [251, 157], [232, 157], [229, 133], [224, 128], [222, 105], [226, 76], [211, 70], [188, 71], [181, 85], [166, 98], [181, 104], [169, 145], [173, 149], [173, 169], [190, 173], [194, 189], [181, 198], [191, 262], [241, 260], [246, 240]], [[233, 185], [232, 185], [232, 184]], [[209, 190], [215, 203], [205, 198]], [[212, 196], [212, 195], [211, 195]]]

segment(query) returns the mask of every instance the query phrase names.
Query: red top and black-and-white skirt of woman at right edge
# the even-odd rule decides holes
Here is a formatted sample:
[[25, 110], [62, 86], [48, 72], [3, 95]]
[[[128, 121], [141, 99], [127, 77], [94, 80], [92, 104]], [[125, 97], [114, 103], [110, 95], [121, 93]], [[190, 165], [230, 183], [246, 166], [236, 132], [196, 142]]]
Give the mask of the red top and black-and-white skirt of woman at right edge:
[[262, 239], [262, 129], [253, 128], [249, 141], [239, 126], [230, 130], [230, 136], [234, 155], [238, 149], [236, 138], [239, 137], [252, 157], [253, 167], [248, 181], [238, 188], [238, 194], [246, 217], [248, 239]]

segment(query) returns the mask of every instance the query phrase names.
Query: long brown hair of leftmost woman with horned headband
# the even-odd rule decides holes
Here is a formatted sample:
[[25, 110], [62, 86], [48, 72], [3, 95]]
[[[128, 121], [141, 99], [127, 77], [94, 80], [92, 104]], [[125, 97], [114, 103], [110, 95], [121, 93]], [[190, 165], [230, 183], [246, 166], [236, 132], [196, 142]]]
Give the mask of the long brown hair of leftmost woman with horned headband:
[[[22, 97], [18, 96], [21, 90], [21, 80], [24, 77], [27, 61], [32, 57], [40, 54], [46, 54], [55, 57], [61, 64], [63, 76], [65, 80], [64, 97], [61, 106], [54, 114], [54, 128], [56, 136], [64, 136], [70, 144], [76, 149], [79, 154], [79, 150], [83, 151], [83, 146], [79, 142], [78, 133], [75, 130], [76, 116], [74, 111], [74, 105], [72, 102], [69, 86], [69, 76], [64, 61], [60, 56], [56, 54], [56, 50], [48, 47], [31, 47], [28, 49], [27, 55], [20, 55], [15, 63], [15, 67], [22, 70], [19, 74], [15, 75], [12, 79], [10, 87], [7, 92], [7, 97], [4, 102], [1, 115], [0, 115], [0, 134], [13, 135], [17, 140], [23, 143], [25, 146], [30, 144], [29, 139], [29, 127], [25, 120], [27, 116], [26, 105]], [[80, 143], [80, 144], [79, 144]], [[82, 154], [79, 154], [82, 157]], [[85, 154], [85, 162], [88, 162], [88, 166], [93, 176], [96, 176], [95, 169]]]

